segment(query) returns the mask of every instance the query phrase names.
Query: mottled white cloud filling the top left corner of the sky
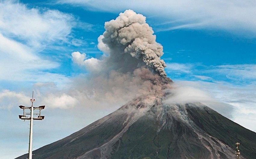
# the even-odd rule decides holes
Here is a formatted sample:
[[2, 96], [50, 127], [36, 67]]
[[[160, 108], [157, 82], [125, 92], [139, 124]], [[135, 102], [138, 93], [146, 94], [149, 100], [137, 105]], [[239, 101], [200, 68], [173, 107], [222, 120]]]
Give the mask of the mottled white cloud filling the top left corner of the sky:
[[75, 25], [72, 15], [58, 10], [30, 9], [13, 1], [2, 1], [0, 8], [0, 32], [36, 48], [49, 42], [65, 41]]

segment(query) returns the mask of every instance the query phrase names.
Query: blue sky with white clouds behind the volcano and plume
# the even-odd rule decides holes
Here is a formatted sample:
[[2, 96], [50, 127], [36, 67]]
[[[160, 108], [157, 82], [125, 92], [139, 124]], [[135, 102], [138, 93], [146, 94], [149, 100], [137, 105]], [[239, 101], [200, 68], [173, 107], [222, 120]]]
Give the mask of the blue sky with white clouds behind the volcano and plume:
[[127, 9], [146, 16], [163, 46], [176, 101], [201, 101], [256, 132], [255, 1], [0, 1], [0, 158], [27, 153], [29, 122], [18, 119], [18, 106], [30, 106], [32, 91], [34, 104], [46, 105], [33, 149], [125, 103], [84, 99], [80, 79], [108, 51], [105, 22]]

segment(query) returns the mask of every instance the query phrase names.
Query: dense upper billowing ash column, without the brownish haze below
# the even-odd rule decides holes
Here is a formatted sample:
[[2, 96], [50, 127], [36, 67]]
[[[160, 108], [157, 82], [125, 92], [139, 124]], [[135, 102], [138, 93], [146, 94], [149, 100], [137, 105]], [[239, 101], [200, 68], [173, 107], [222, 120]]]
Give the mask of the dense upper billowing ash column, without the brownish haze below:
[[126, 10], [115, 20], [105, 22], [105, 29], [102, 42], [110, 49], [108, 65], [124, 72], [146, 65], [166, 77], [166, 64], [160, 59], [163, 46], [156, 42], [145, 16]]

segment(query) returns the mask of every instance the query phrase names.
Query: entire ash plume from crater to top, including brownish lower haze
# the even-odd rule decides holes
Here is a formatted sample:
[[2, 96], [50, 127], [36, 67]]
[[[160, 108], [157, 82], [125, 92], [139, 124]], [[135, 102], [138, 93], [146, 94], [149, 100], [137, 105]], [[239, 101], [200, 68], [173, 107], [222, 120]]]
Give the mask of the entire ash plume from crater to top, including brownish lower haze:
[[98, 48], [105, 52], [101, 59], [72, 53], [73, 61], [89, 71], [86, 77], [75, 81], [82, 97], [115, 104], [139, 96], [147, 96], [152, 102], [161, 99], [171, 80], [160, 59], [163, 47], [156, 42], [145, 19], [126, 10], [115, 20], [105, 22], [106, 31], [98, 38]]

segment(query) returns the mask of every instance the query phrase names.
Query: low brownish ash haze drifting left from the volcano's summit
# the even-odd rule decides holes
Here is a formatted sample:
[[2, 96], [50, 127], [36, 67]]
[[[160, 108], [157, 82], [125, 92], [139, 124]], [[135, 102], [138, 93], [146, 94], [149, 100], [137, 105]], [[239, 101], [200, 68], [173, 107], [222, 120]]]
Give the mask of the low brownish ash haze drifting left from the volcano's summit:
[[127, 73], [112, 70], [108, 73], [80, 76], [74, 80], [74, 88], [76, 95], [83, 98], [82, 101], [86, 98], [120, 106], [140, 96], [160, 100], [164, 95], [163, 90], [169, 88], [169, 82], [169, 79], [161, 78], [148, 68], [140, 67]]

